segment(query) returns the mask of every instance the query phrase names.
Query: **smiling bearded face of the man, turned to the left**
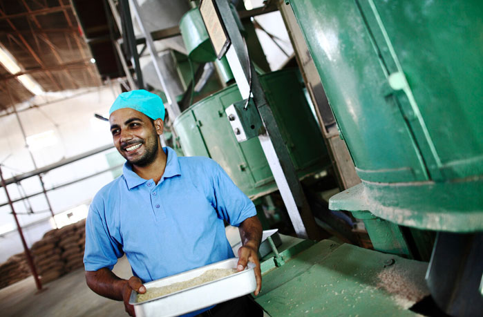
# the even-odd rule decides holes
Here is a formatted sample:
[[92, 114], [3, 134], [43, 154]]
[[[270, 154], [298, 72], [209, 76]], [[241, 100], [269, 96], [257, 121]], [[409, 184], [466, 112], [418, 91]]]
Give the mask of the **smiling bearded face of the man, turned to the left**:
[[[153, 121], [131, 108], [114, 111], [109, 117], [113, 142], [117, 151], [131, 164], [147, 166], [154, 162], [158, 154], [159, 124], [162, 133], [162, 120]], [[157, 132], [158, 130], [158, 132]]]

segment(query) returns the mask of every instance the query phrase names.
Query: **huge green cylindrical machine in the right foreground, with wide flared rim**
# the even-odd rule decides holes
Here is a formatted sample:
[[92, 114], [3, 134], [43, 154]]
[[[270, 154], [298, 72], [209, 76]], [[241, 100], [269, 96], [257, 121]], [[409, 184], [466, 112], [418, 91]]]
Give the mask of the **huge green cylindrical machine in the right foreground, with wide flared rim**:
[[438, 231], [433, 298], [451, 315], [481, 312], [482, 2], [285, 2], [362, 180], [330, 209]]

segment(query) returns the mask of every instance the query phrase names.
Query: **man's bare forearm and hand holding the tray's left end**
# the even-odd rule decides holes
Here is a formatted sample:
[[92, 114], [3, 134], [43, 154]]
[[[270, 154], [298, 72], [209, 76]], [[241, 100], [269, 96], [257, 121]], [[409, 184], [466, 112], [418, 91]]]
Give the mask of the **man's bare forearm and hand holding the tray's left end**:
[[86, 282], [87, 286], [100, 296], [123, 300], [124, 308], [129, 316], [135, 316], [133, 305], [129, 305], [131, 291], [135, 290], [140, 294], [146, 293], [146, 287], [142, 285], [140, 278], [132, 276], [129, 280], [123, 280], [106, 267], [97, 271], [86, 271]]

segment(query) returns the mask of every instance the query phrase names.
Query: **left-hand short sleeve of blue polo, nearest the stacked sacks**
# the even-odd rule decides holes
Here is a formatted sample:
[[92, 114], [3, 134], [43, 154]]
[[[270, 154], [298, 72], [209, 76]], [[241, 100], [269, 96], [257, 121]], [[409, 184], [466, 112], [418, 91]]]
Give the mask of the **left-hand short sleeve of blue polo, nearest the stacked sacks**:
[[86, 271], [97, 271], [104, 267], [113, 269], [117, 259], [123, 255], [122, 246], [109, 234], [104, 204], [96, 203], [95, 198], [86, 219], [84, 267]]

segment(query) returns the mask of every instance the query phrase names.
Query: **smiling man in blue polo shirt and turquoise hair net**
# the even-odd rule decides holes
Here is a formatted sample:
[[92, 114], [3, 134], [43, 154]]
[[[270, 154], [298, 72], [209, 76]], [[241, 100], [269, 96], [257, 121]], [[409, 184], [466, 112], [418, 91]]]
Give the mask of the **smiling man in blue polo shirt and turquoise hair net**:
[[[124, 300], [144, 294], [143, 282], [233, 258], [223, 220], [239, 227], [243, 247], [238, 271], [256, 265], [258, 295], [261, 224], [254, 204], [207, 157], [177, 157], [160, 145], [164, 106], [146, 90], [122, 93], [109, 111], [113, 142], [126, 159], [123, 173], [95, 195], [86, 221], [87, 285], [101, 296]], [[133, 277], [111, 271], [126, 254]], [[247, 296], [187, 316], [262, 316]]]

